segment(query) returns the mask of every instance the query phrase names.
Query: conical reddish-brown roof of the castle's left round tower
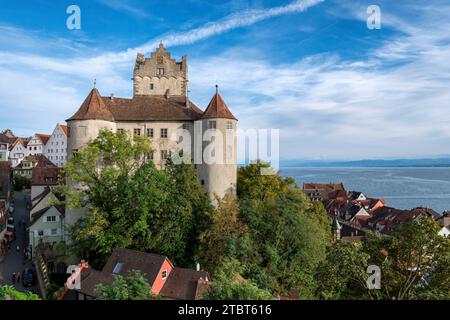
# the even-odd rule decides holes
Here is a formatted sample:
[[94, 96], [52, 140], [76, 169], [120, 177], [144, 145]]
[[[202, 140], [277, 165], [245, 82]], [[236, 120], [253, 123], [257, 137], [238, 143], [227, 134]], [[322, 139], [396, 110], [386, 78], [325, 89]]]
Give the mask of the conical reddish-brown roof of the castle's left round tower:
[[98, 90], [94, 88], [86, 97], [78, 111], [72, 117], [67, 119], [67, 121], [70, 120], [114, 121], [114, 117], [104, 103]]

